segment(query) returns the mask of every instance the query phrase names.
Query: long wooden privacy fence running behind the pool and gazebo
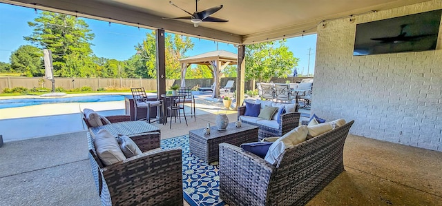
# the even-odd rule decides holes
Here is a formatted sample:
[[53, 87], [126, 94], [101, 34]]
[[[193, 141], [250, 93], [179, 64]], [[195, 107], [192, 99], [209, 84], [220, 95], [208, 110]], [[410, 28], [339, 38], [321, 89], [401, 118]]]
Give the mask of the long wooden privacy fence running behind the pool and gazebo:
[[[272, 78], [274, 83], [285, 83], [285, 81], [301, 81], [305, 78], [311, 77], [293, 77], [289, 76], [284, 78]], [[48, 79], [44, 79], [44, 83], [40, 85], [39, 80], [41, 77], [22, 77], [22, 76], [2, 76], [0, 77], [0, 92], [3, 92], [5, 88], [25, 87], [32, 89], [34, 87], [46, 87], [51, 89], [52, 84]], [[236, 77], [223, 77], [220, 79], [220, 86], [224, 87], [227, 81], [235, 81]], [[186, 86], [195, 87], [210, 87], [213, 83], [213, 79], [186, 79]], [[173, 84], [180, 85], [180, 80], [166, 79], [166, 90]], [[252, 81], [245, 82], [245, 89], [251, 90]], [[129, 79], [129, 78], [55, 78], [55, 87], [62, 87], [64, 90], [73, 90], [84, 86], [92, 87], [93, 91], [97, 91], [99, 88], [131, 88], [131, 87], [144, 87], [145, 90], [157, 90], [157, 79]]]

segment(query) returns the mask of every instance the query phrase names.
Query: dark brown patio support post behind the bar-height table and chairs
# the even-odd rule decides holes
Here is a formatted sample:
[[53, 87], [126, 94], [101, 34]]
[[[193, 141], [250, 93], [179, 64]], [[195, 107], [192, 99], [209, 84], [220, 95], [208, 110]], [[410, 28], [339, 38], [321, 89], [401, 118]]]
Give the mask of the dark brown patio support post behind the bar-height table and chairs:
[[[155, 40], [157, 46], [157, 99], [160, 99], [161, 94], [166, 94], [166, 44], [164, 43], [164, 30], [157, 29], [155, 31]], [[163, 108], [163, 114], [166, 114], [166, 107]], [[164, 119], [160, 123], [163, 122]]]

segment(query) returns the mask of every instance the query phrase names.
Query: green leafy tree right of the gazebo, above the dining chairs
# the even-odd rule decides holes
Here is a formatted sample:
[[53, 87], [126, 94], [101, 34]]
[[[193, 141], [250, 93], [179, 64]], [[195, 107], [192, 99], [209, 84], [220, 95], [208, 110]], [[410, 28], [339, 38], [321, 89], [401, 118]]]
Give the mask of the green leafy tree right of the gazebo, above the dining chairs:
[[259, 82], [271, 77], [287, 78], [299, 59], [289, 51], [285, 40], [255, 43], [246, 46], [245, 79]]

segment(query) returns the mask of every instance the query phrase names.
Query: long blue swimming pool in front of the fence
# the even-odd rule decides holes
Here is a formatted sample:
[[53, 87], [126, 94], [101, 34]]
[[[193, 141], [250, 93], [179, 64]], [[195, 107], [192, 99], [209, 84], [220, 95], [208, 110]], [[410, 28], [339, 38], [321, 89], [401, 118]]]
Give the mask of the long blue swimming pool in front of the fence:
[[[122, 101], [126, 95], [90, 95], [73, 96], [60, 98], [35, 98], [35, 99], [0, 99], [0, 109], [12, 107], [25, 107], [30, 105], [52, 104], [52, 103], [87, 103], [104, 101]], [[131, 96], [132, 97], [132, 96]]]

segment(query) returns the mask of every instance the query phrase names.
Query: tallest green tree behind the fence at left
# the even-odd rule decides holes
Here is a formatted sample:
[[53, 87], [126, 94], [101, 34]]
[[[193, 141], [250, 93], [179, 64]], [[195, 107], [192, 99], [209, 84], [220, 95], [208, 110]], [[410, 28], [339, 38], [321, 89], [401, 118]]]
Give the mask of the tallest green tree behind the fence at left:
[[55, 76], [95, 75], [89, 43], [95, 34], [90, 33], [84, 20], [66, 14], [41, 12], [28, 25], [33, 32], [23, 38], [52, 51]]

